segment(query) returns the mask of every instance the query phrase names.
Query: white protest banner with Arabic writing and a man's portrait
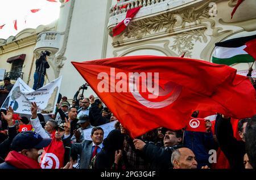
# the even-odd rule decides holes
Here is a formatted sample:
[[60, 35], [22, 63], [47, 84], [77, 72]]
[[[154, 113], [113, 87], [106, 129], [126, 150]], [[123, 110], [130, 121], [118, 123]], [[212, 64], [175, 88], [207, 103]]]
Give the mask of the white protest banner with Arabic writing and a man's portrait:
[[16, 80], [5, 102], [3, 102], [1, 109], [11, 106], [15, 113], [31, 114], [31, 102], [36, 102], [38, 113], [53, 114], [55, 113], [55, 104], [60, 91], [61, 79], [62, 77], [59, 77], [35, 91], [19, 78]]

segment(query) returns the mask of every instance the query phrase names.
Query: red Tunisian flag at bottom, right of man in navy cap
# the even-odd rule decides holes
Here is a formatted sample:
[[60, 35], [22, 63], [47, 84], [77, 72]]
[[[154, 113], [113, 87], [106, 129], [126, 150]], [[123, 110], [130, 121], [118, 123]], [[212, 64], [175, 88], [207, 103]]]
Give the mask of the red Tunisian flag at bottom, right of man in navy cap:
[[57, 140], [55, 136], [52, 138], [51, 144], [44, 148], [41, 157], [40, 166], [42, 169], [60, 169], [64, 163], [64, 145], [63, 142]]

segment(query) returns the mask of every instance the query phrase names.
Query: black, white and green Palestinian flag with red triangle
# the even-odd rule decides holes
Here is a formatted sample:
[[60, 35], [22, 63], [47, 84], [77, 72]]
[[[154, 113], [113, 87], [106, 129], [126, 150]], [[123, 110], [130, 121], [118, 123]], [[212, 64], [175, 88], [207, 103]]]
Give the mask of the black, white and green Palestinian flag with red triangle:
[[213, 52], [212, 62], [220, 65], [254, 62], [253, 55], [247, 49], [256, 49], [256, 46], [247, 46], [247, 42], [256, 40], [256, 35], [234, 38], [224, 42], [217, 42]]

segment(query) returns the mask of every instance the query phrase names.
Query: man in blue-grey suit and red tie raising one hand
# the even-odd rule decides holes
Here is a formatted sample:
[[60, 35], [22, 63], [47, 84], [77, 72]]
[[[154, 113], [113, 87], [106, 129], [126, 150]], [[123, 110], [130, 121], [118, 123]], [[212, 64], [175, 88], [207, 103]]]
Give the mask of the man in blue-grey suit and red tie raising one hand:
[[89, 169], [92, 158], [103, 148], [104, 131], [101, 127], [93, 127], [91, 140], [83, 140], [81, 143], [71, 143], [71, 120], [64, 124], [65, 135], [63, 139], [64, 147], [71, 147], [71, 153], [80, 155], [80, 169]]

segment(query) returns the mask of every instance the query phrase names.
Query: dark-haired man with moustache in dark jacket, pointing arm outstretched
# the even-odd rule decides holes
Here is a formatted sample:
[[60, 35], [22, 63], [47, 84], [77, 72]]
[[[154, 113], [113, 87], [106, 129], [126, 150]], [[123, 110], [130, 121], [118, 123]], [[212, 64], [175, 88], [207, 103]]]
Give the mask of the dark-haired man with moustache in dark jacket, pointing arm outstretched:
[[162, 128], [164, 134], [164, 147], [158, 147], [154, 143], [144, 143], [142, 140], [134, 139], [136, 149], [143, 152], [145, 160], [150, 162], [151, 169], [170, 169], [171, 155], [174, 149], [183, 147], [181, 144], [183, 139], [183, 131], [168, 130]]

